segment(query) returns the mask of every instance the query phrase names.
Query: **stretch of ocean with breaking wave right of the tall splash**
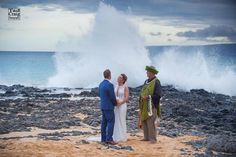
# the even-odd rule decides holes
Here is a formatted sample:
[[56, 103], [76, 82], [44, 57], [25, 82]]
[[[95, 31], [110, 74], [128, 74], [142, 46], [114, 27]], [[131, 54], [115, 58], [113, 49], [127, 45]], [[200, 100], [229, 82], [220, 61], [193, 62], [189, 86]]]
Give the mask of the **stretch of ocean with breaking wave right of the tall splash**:
[[164, 84], [236, 95], [236, 44], [150, 47], [150, 53]]

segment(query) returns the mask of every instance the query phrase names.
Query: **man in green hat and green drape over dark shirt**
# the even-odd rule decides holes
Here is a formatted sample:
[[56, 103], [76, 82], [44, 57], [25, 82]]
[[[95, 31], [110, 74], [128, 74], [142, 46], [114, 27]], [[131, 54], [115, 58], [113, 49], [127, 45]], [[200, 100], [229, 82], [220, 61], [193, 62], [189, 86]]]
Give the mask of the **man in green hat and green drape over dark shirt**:
[[139, 96], [138, 126], [143, 129], [144, 139], [156, 143], [155, 120], [160, 117], [161, 84], [156, 78], [158, 71], [154, 66], [146, 66], [148, 79], [144, 82]]

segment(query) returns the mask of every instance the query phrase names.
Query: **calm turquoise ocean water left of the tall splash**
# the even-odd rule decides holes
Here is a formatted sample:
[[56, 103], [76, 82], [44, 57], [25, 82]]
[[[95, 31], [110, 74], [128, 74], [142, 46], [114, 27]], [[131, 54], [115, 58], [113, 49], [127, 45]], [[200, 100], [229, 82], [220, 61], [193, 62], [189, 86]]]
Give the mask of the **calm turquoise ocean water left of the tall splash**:
[[0, 51], [0, 84], [45, 86], [55, 74], [53, 52]]

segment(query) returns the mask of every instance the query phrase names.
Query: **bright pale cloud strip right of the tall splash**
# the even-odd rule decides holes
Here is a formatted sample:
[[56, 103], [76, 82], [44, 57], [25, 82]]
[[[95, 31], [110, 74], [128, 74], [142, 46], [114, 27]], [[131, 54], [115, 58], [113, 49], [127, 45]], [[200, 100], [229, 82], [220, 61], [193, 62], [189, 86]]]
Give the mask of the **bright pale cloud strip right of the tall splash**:
[[[205, 24], [181, 23], [177, 19], [161, 19], [147, 16], [131, 16], [130, 20], [139, 30], [139, 33], [145, 39], [146, 45], [196, 45], [207, 44], [206, 41], [191, 41], [187, 38], [176, 36], [178, 32], [188, 30], [197, 30], [205, 27]], [[177, 23], [175, 25], [175, 23]], [[159, 33], [158, 36], [151, 34]]]

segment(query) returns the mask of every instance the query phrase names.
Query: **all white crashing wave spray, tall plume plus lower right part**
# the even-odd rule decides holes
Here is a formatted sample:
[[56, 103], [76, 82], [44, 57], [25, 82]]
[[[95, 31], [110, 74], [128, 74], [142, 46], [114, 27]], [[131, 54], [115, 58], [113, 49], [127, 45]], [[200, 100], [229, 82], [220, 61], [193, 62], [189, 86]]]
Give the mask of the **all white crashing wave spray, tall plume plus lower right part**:
[[235, 63], [234, 67], [222, 66], [227, 60], [219, 62], [220, 57], [211, 52], [171, 47], [161, 53], [148, 53], [126, 15], [101, 3], [93, 27], [83, 40], [75, 37], [60, 42], [54, 55], [56, 74], [48, 79], [48, 86], [95, 87], [103, 79], [102, 72], [109, 68], [113, 83], [120, 73], [126, 73], [128, 85], [136, 87], [146, 79], [145, 66], [153, 64], [160, 71], [163, 85], [236, 95]]

